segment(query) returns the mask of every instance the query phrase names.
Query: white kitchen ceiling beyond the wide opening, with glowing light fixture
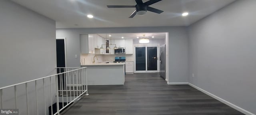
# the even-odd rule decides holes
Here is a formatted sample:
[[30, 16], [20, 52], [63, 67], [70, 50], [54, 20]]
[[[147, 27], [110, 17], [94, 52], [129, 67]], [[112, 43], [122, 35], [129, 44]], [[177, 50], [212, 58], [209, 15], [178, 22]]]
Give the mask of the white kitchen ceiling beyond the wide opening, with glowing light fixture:
[[[145, 35], [145, 38], [149, 38], [149, 39], [165, 39], [166, 33], [112, 33], [112, 34], [104, 33], [104, 34], [98, 34], [98, 35], [102, 36], [103, 38], [107, 37], [107, 39], [110, 39], [109, 35], [111, 35], [111, 39], [140, 39], [140, 38], [143, 38], [143, 35]], [[152, 36], [154, 36], [154, 38], [152, 38]]]

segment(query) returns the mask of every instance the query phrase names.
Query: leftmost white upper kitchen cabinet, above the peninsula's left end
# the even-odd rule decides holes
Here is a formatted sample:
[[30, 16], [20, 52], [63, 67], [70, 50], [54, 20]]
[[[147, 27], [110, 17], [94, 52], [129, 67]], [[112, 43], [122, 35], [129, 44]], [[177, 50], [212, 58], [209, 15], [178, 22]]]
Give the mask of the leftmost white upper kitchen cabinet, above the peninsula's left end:
[[81, 54], [94, 54], [94, 40], [88, 34], [80, 35]]

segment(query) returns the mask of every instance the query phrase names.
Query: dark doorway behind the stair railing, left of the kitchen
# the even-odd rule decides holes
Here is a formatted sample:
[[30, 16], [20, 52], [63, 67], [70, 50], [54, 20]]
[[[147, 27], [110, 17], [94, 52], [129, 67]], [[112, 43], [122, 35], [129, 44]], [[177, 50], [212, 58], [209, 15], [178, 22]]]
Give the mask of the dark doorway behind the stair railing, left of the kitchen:
[[[56, 39], [56, 54], [57, 54], [57, 67], [65, 67], [65, 42], [64, 39]], [[64, 72], [65, 69], [57, 69], [57, 73]], [[60, 83], [60, 79], [62, 77], [62, 83]], [[65, 86], [64, 84], [64, 74], [58, 75], [58, 88], [60, 89], [60, 84], [62, 87]]]

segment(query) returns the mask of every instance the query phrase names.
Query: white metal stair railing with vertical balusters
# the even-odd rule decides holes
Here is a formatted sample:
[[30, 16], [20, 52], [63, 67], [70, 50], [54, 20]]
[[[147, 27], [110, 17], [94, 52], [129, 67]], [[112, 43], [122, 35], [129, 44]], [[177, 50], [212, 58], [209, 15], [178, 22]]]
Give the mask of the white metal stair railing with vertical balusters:
[[[18, 105], [18, 96], [17, 96], [17, 92], [18, 89], [17, 87], [21, 87], [22, 85], [25, 85], [25, 91], [24, 93], [26, 93], [26, 114], [30, 115], [30, 111], [34, 111], [34, 113], [36, 114], [31, 114], [31, 115], [47, 115], [47, 107], [49, 106], [49, 104], [46, 103], [46, 96], [50, 97], [50, 109], [51, 111], [49, 111], [49, 113], [51, 115], [60, 115], [60, 111], [64, 110], [66, 107], [68, 107], [69, 105], [71, 105], [74, 101], [79, 100], [83, 95], [89, 95], [88, 94], [88, 83], [87, 83], [87, 67], [57, 67], [56, 68], [57, 74], [54, 75], [49, 75], [46, 77], [42, 77], [39, 79], [34, 79], [34, 80], [30, 80], [30, 81], [26, 81], [26, 82], [22, 82], [22, 83], [17, 83], [14, 85], [9, 85], [6, 87], [0, 87], [0, 109], [10, 109], [10, 108], [5, 108], [4, 107], [4, 100], [7, 99], [3, 99], [3, 95], [4, 92], [3, 90], [5, 89], [10, 89], [10, 88], [14, 88], [14, 102], [15, 104], [12, 105], [12, 109], [19, 109]], [[55, 77], [55, 87], [52, 87], [52, 83], [54, 83], [54, 78]], [[49, 80], [49, 81], [48, 81]], [[38, 91], [40, 88], [40, 85], [38, 85], [40, 83], [40, 81], [42, 82], [42, 92], [43, 92], [43, 98], [44, 98], [44, 104], [43, 103], [38, 103]], [[50, 86], [49, 86], [49, 92], [50, 95], [46, 95], [46, 82], [50, 82]], [[35, 86], [35, 96], [36, 97], [36, 102], [34, 102], [33, 104], [36, 105], [36, 107], [29, 107], [29, 103], [31, 103], [31, 100], [29, 100], [28, 95], [28, 83], [33, 83], [34, 82], [34, 86]], [[53, 101], [54, 98], [52, 98], [52, 95], [54, 95], [54, 93], [52, 93], [52, 88], [56, 88], [56, 108], [53, 107]], [[20, 91], [19, 91], [20, 92]], [[64, 98], [66, 98], [64, 100]], [[48, 100], [47, 100], [48, 101]], [[60, 102], [61, 101], [61, 102]], [[64, 106], [64, 101], [65, 102], [65, 106]], [[62, 103], [62, 107], [60, 108], [60, 103]], [[40, 107], [44, 106], [44, 108], [38, 108], [38, 104], [42, 104]], [[31, 104], [30, 104], [31, 105]], [[10, 106], [9, 106], [10, 107]], [[24, 109], [24, 107], [22, 108]], [[40, 111], [44, 111], [44, 113], [39, 113], [39, 109]], [[56, 109], [57, 111], [53, 111], [53, 109]], [[35, 112], [36, 111], [36, 112]], [[21, 115], [21, 114], [19, 114]], [[25, 115], [25, 114], [22, 114]]]

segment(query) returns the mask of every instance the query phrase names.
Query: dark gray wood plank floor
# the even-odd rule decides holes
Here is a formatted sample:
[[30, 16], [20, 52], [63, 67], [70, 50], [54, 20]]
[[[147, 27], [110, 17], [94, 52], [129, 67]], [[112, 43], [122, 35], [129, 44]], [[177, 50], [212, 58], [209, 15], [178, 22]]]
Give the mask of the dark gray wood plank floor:
[[89, 93], [64, 115], [244, 115], [189, 85], [167, 85], [158, 73], [126, 75], [124, 85], [89, 86]]

